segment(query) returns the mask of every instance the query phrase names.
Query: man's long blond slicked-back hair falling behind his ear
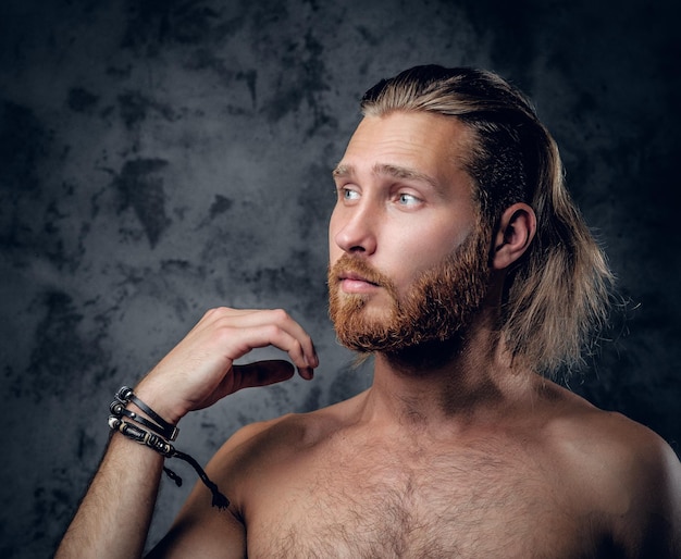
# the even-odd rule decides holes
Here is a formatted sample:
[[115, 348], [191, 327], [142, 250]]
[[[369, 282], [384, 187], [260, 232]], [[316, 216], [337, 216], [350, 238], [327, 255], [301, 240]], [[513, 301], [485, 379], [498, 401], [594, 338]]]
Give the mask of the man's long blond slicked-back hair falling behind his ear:
[[550, 376], [581, 364], [607, 322], [612, 274], [566, 189], [556, 142], [525, 96], [492, 72], [429, 65], [381, 80], [361, 109], [367, 116], [437, 113], [472, 132], [465, 165], [484, 224], [494, 231], [516, 202], [537, 219], [535, 238], [506, 276], [505, 347], [516, 364]]

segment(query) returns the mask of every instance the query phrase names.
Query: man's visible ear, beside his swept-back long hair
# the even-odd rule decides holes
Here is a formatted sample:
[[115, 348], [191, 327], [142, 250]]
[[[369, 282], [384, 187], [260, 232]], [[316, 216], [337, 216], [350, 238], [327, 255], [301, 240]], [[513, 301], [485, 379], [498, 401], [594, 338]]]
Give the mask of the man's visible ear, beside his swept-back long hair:
[[507, 208], [494, 234], [491, 265], [505, 270], [516, 262], [532, 243], [536, 233], [536, 215], [527, 203]]

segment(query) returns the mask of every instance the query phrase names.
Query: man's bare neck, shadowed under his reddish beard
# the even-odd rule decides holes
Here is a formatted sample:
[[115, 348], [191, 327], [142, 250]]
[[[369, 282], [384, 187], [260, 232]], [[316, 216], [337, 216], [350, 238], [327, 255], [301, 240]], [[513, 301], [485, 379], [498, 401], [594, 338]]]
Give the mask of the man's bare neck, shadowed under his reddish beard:
[[460, 344], [376, 353], [364, 411], [419, 428], [465, 426], [494, 421], [535, 387], [536, 375], [511, 368], [496, 333], [478, 328]]

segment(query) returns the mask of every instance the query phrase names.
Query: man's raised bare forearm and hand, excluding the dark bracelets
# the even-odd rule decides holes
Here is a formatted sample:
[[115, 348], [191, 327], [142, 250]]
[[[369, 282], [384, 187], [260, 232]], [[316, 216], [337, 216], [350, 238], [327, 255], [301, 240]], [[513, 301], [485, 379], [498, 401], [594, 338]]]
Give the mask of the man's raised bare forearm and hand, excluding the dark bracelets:
[[[284, 361], [234, 365], [251, 349], [267, 346], [286, 351], [300, 375], [312, 377], [318, 365], [312, 340], [288, 314], [223, 308], [207, 312], [135, 393], [161, 418], [177, 424], [189, 411], [242, 388], [290, 378], [293, 367]], [[162, 467], [161, 455], [114, 433], [55, 558], [140, 557]]]

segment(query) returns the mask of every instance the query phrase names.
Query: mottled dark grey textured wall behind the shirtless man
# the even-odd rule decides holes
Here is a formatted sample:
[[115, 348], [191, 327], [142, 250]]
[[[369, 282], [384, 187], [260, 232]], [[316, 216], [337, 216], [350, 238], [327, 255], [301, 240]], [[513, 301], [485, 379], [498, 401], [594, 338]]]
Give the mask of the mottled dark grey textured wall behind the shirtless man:
[[[679, 452], [677, 5], [4, 0], [0, 555], [50, 555], [112, 393], [209, 307], [285, 307], [322, 367], [188, 418], [178, 447], [202, 462], [246, 422], [368, 385], [326, 320], [330, 169], [361, 92], [418, 63], [490, 67], [535, 99], [639, 305], [571, 385]], [[188, 483], [163, 483], [152, 538], [194, 483], [176, 465]]]

